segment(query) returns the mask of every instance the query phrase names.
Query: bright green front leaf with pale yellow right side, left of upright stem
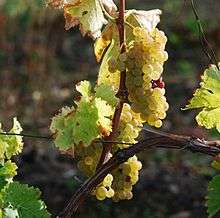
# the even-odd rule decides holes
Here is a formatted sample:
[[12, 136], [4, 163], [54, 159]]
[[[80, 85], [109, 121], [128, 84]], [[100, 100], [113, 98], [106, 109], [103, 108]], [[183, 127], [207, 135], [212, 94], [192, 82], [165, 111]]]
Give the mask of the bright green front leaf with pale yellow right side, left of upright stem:
[[[100, 95], [99, 88], [97, 88], [99, 95], [92, 98], [91, 85], [88, 81], [80, 82], [76, 88], [82, 94], [82, 98], [76, 102], [78, 108], [72, 122], [73, 137], [76, 144], [82, 142], [88, 146], [95, 138], [102, 136], [103, 133], [108, 135], [111, 131], [109, 117], [113, 114], [113, 109], [107, 104], [109, 102], [104, 92]], [[113, 90], [107, 91], [110, 91], [108, 100], [112, 103], [115, 100]], [[100, 130], [103, 133], [100, 134]]]

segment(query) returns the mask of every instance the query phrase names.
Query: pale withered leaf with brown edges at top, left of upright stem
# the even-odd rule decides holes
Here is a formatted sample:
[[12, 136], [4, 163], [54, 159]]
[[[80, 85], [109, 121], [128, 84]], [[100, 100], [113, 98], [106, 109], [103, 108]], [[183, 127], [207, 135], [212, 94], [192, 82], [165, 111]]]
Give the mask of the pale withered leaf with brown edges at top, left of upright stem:
[[101, 35], [101, 29], [107, 23], [99, 0], [72, 0], [64, 4], [66, 29], [80, 25], [83, 36], [93, 38]]

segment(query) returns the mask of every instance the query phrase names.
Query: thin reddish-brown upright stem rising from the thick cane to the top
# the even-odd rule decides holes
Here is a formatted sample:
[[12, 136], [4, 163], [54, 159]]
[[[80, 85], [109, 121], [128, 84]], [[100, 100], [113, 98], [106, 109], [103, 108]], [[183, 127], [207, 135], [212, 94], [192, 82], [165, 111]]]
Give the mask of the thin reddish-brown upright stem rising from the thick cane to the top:
[[[125, 45], [125, 0], [120, 0], [119, 2], [119, 16], [116, 20], [116, 24], [118, 27], [119, 33], [119, 41], [120, 41], [120, 53], [124, 53], [126, 51]], [[119, 98], [119, 102], [116, 105], [115, 112], [112, 119], [112, 132], [109, 136], [105, 137], [105, 141], [113, 141], [116, 137], [120, 117], [123, 109], [123, 105], [127, 102], [128, 93], [126, 89], [126, 70], [120, 72], [120, 85], [118, 89], [118, 93], [116, 96]], [[97, 164], [97, 169], [99, 169], [108, 159], [109, 153], [112, 150], [112, 143], [103, 144], [102, 154], [100, 156], [99, 162]]]

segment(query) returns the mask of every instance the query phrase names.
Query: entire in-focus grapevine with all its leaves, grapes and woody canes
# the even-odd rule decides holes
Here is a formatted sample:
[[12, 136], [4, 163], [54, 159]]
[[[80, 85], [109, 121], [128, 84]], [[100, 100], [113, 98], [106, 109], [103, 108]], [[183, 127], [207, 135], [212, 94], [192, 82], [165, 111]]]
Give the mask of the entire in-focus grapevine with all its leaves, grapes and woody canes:
[[[87, 178], [60, 218], [72, 217], [88, 195], [99, 201], [132, 199], [144, 167], [138, 153], [146, 149], [207, 154], [213, 157], [212, 167], [220, 170], [219, 141], [150, 128], [162, 127], [169, 109], [163, 81], [167, 37], [158, 28], [160, 10], [126, 10], [125, 0], [118, 7], [113, 0], [47, 0], [46, 5], [63, 11], [67, 30], [79, 26], [82, 36], [95, 41], [94, 54], [100, 63], [97, 82], [77, 83], [78, 96], [51, 120], [51, 136], [38, 137], [53, 139], [63, 154], [71, 154]], [[195, 9], [194, 13], [198, 21]], [[183, 110], [199, 109], [198, 125], [220, 132], [220, 63], [214, 63], [204, 71], [200, 87]], [[150, 137], [140, 137], [141, 131]], [[38, 189], [14, 181], [13, 156], [22, 152], [23, 136], [29, 135], [22, 135], [17, 118], [9, 132], [0, 124], [0, 218], [51, 217]], [[208, 185], [210, 217], [220, 211], [219, 187], [216, 175]]]

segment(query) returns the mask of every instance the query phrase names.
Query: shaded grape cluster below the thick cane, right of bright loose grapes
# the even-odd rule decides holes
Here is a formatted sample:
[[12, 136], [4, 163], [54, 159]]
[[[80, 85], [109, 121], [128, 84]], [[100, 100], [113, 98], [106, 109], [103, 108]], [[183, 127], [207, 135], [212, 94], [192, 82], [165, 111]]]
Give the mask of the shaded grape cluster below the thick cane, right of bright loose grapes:
[[141, 168], [141, 162], [138, 161], [136, 156], [133, 156], [113, 171], [114, 181], [112, 188], [115, 192], [112, 197], [113, 201], [130, 200], [133, 197], [132, 187], [139, 179], [139, 171]]

